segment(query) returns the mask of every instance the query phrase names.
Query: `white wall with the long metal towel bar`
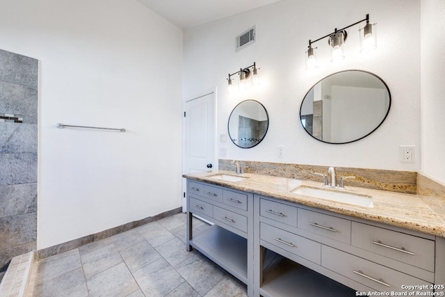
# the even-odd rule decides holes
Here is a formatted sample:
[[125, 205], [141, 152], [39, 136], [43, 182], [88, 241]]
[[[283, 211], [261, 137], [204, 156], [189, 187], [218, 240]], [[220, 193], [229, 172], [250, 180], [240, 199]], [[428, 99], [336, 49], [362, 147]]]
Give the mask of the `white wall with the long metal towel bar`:
[[0, 48], [40, 61], [39, 249], [181, 206], [181, 30], [136, 0], [2, 0]]

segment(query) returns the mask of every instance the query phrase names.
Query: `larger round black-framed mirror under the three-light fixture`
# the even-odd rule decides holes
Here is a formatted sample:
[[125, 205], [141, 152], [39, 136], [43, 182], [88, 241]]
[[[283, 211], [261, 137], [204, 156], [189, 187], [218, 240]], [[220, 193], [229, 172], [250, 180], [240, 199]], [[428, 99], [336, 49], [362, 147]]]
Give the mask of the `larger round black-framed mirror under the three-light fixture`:
[[346, 70], [315, 84], [300, 108], [302, 127], [324, 143], [352, 143], [380, 127], [389, 113], [391, 93], [370, 72]]

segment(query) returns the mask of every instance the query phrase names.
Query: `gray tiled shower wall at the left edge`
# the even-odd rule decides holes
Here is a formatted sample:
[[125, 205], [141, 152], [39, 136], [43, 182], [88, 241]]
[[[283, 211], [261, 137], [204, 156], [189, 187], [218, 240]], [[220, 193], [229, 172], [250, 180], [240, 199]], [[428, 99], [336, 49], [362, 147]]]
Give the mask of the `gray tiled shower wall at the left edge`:
[[37, 102], [38, 61], [0, 49], [0, 269], [36, 248]]

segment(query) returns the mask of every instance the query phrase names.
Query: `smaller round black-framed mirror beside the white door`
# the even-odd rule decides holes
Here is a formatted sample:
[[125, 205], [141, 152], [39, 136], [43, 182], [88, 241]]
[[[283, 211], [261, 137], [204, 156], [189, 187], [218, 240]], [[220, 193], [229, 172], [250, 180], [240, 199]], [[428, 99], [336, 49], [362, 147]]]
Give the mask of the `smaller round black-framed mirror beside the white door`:
[[229, 137], [242, 148], [261, 143], [269, 127], [269, 116], [263, 104], [245, 100], [235, 106], [229, 117]]

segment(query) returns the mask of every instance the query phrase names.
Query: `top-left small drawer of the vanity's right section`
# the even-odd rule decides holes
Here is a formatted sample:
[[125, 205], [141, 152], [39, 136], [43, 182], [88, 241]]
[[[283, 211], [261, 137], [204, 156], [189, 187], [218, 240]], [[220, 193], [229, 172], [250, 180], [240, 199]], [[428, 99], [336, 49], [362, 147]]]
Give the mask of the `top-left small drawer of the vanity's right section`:
[[275, 201], [260, 199], [260, 215], [297, 227], [297, 208]]

